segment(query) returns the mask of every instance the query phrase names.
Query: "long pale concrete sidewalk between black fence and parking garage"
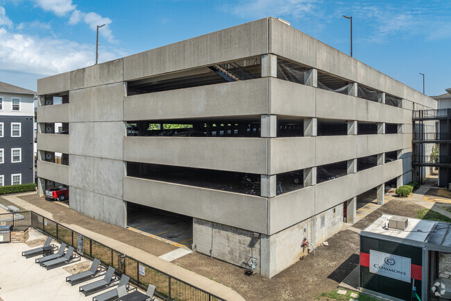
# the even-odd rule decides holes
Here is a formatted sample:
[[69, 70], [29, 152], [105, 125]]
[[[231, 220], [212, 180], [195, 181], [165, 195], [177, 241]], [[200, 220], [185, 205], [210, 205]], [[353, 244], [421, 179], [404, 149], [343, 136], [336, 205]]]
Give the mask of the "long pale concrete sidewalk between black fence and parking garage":
[[[35, 194], [35, 193], [23, 193], [23, 194], [19, 194], [19, 195], [10, 195], [10, 196], [3, 195], [2, 197], [4, 199], [8, 200], [9, 202], [12, 202], [26, 210], [35, 211], [36, 213], [44, 215], [44, 217], [46, 217], [46, 218], [53, 219], [53, 215], [51, 213], [49, 213], [48, 211], [45, 211], [45, 210], [43, 210], [33, 204], [30, 204], [20, 198], [23, 195], [32, 195], [32, 194]], [[214, 282], [213, 280], [210, 280], [206, 277], [198, 275], [195, 272], [185, 270], [184, 268], [181, 268], [180, 266], [176, 266], [175, 264], [170, 263], [169, 261], [166, 261], [164, 259], [160, 259], [159, 257], [156, 257], [153, 254], [149, 254], [148, 252], [139, 250], [137, 247], [133, 247], [133, 246], [127, 245], [126, 243], [122, 243], [121, 241], [116, 241], [107, 236], [97, 234], [93, 231], [90, 231], [88, 229], [80, 227], [79, 225], [66, 224], [65, 222], [62, 222], [60, 220], [57, 220], [57, 222], [60, 222], [61, 225], [64, 225], [65, 227], [68, 227], [69, 229], [72, 229], [80, 234], [83, 234], [84, 236], [88, 236], [88, 237], [94, 239], [95, 241], [99, 241], [99, 243], [103, 243], [104, 245], [108, 245], [108, 247], [112, 247], [113, 249], [115, 249], [119, 252], [123, 252], [124, 254], [127, 254], [128, 256], [137, 259], [138, 261], [146, 263], [148, 266], [151, 266], [158, 270], [162, 270], [163, 272], [166, 272], [167, 274], [169, 274], [173, 277], [181, 279], [184, 282], [192, 284], [193, 286], [197, 286], [198, 288], [201, 288], [204, 291], [207, 291], [214, 295], [217, 295], [220, 298], [226, 299], [228, 301], [244, 300], [244, 298], [242, 298], [241, 295], [239, 295], [237, 292], [233, 291], [232, 288], [229, 288], [223, 284]]]

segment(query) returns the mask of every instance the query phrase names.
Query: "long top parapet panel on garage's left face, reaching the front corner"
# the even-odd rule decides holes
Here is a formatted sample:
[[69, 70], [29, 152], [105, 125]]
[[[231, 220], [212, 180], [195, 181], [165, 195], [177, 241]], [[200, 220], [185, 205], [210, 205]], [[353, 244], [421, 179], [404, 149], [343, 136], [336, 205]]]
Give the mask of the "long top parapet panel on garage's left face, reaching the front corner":
[[268, 53], [268, 18], [124, 58], [124, 81]]

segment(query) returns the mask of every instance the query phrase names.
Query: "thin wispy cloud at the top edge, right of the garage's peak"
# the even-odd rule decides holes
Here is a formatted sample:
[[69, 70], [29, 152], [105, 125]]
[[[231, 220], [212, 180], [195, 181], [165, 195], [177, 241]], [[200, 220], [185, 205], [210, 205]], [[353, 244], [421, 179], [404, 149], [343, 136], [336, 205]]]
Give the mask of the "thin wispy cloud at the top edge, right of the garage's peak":
[[[317, 0], [248, 0], [232, 8], [239, 17], [305, 17], [316, 10]], [[230, 8], [226, 8], [229, 10]]]

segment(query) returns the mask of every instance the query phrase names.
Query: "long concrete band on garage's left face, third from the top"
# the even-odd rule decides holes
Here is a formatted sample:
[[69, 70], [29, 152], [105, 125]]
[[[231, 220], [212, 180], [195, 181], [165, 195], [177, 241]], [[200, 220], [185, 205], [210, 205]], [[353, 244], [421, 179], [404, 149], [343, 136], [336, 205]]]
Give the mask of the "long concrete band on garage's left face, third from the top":
[[267, 174], [267, 140], [124, 137], [124, 161]]

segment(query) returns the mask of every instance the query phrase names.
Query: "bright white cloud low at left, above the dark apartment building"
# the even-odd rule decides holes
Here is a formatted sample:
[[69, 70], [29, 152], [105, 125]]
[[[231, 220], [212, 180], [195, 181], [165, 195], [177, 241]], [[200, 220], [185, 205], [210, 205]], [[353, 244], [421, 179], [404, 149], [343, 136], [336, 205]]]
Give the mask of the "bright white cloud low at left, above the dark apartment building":
[[[99, 52], [101, 61], [124, 56], [106, 47]], [[0, 28], [0, 71], [47, 76], [93, 65], [94, 60], [93, 45], [22, 35]]]

